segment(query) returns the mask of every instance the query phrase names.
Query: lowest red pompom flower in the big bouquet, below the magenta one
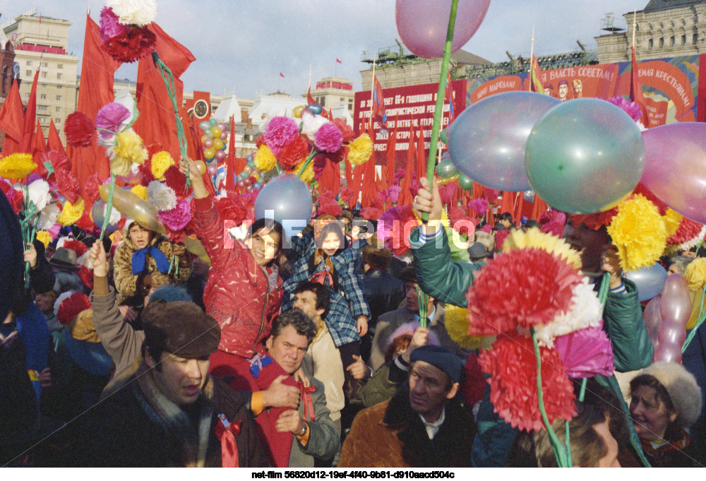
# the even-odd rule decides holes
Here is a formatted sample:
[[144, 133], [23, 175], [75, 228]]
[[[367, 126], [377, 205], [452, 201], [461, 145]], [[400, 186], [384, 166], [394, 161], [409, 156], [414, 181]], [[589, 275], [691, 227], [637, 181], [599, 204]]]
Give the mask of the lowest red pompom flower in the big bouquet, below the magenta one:
[[[576, 415], [571, 381], [555, 350], [539, 348], [539, 353], [546, 416], [550, 423], [556, 419], [570, 421]], [[544, 429], [532, 339], [514, 332], [502, 335], [491, 350], [481, 352], [478, 363], [483, 372], [491, 376], [490, 400], [495, 412], [517, 429]]]

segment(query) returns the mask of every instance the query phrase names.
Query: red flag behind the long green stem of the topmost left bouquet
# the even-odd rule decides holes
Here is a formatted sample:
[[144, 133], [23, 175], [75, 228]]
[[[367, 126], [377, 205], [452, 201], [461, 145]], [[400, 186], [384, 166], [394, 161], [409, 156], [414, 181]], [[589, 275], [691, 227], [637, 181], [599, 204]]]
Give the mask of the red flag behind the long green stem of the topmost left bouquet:
[[[189, 68], [191, 62], [196, 60], [196, 57], [193, 57], [184, 45], [169, 37], [156, 23], [150, 23], [148, 28], [157, 37], [155, 51], [164, 65], [172, 71], [177, 105], [181, 106], [184, 97], [184, 82], [179, 78]], [[135, 131], [140, 134], [145, 145], [159, 143], [172, 155], [174, 160], [179, 160], [181, 150], [179, 149], [177, 119], [174, 116], [172, 99], [167, 93], [167, 87], [164, 85], [160, 71], [150, 56], [140, 59], [136, 96], [140, 117], [133, 127]]]

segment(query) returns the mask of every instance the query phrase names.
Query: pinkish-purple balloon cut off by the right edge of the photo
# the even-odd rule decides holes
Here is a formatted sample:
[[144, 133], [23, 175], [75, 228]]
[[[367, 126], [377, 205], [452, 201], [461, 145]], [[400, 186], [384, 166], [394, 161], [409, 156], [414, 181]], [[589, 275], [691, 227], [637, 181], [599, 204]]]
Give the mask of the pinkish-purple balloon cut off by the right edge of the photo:
[[684, 217], [706, 224], [706, 124], [677, 122], [642, 132], [640, 182]]

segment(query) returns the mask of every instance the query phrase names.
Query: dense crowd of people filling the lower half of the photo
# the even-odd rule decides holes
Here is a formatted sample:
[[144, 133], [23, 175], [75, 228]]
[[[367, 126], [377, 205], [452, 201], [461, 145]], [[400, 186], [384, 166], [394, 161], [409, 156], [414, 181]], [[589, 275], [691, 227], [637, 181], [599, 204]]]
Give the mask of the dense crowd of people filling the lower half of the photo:
[[[292, 239], [257, 219], [229, 247], [196, 165], [181, 171], [208, 263], [133, 219], [118, 246], [74, 228], [13, 260], [28, 263], [29, 283], [3, 287], [14, 295], [0, 324], [0, 465], [557, 465], [546, 430], [496, 412], [477, 352], [445, 326], [508, 232], [532, 222], [501, 213], [469, 233], [469, 260], [454, 261], [438, 189], [420, 179], [412, 207], [428, 220], [409, 236], [411, 262], [353, 229], [349, 212]], [[616, 372], [631, 373], [625, 397], [616, 376], [592, 377], [578, 415], [554, 422], [573, 465], [706, 463], [702, 334], [683, 365], [652, 362], [637, 287], [605, 227], [569, 222], [563, 236], [596, 290], [609, 273], [603, 328]], [[679, 254], [665, 262], [683, 273], [702, 251]]]

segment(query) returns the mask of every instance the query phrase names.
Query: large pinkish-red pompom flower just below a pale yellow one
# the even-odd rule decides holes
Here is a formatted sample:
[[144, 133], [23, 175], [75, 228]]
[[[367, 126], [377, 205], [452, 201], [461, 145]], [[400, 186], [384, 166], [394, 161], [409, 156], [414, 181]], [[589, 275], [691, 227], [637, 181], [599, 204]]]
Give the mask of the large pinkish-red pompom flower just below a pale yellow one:
[[581, 281], [566, 261], [542, 249], [515, 249], [488, 261], [468, 288], [469, 335], [494, 335], [552, 321]]

